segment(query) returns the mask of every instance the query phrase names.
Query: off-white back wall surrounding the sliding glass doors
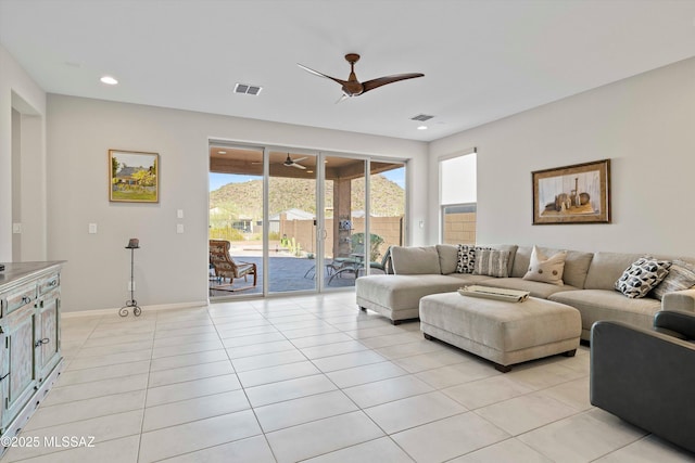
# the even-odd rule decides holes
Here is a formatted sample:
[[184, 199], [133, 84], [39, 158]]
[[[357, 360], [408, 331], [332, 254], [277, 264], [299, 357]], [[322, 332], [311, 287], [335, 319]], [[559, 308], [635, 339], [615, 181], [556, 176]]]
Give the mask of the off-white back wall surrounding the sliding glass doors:
[[[65, 311], [121, 307], [129, 297], [129, 237], [140, 305], [207, 298], [207, 140], [226, 139], [407, 158], [410, 187], [426, 191], [427, 144], [336, 130], [50, 94], [49, 258], [67, 260]], [[160, 203], [109, 202], [110, 149], [160, 153]], [[409, 197], [409, 239], [426, 195]], [[185, 218], [176, 218], [184, 209]], [[185, 233], [176, 233], [176, 223]], [[89, 234], [88, 224], [98, 233]]]

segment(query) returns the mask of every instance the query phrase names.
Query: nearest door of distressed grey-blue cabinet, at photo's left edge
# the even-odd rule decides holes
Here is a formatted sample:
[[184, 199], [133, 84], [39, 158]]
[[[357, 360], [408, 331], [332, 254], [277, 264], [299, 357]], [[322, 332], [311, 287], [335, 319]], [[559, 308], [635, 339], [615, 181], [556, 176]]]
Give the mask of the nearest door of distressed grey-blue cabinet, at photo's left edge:
[[4, 343], [4, 361], [10, 373], [5, 383], [4, 425], [22, 410], [34, 394], [35, 369], [35, 320], [36, 308], [28, 304], [8, 317]]

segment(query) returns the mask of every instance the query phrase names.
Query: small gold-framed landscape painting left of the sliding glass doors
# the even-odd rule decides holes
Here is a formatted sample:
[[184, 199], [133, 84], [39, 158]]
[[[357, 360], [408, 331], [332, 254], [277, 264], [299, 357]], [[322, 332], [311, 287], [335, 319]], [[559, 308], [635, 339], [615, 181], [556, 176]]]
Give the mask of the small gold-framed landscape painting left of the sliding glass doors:
[[160, 202], [160, 155], [141, 151], [109, 150], [109, 201]]

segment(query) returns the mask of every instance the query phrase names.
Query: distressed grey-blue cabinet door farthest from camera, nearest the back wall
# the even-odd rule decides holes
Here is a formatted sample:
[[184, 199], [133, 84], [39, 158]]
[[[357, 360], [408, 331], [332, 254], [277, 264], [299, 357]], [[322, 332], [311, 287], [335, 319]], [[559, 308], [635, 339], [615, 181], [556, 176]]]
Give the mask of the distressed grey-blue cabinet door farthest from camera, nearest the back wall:
[[38, 362], [38, 382], [53, 370], [60, 360], [60, 292], [53, 291], [41, 296], [37, 310], [36, 359]]

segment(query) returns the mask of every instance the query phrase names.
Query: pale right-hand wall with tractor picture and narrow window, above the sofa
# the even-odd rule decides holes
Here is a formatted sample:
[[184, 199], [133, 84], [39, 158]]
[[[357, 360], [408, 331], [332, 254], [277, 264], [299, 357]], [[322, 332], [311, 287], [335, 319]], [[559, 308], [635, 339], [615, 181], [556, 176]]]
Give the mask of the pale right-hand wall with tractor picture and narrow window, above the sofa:
[[[432, 142], [478, 147], [478, 241], [695, 256], [695, 59]], [[532, 226], [531, 171], [611, 159], [612, 223]], [[428, 239], [437, 242], [438, 211]]]

